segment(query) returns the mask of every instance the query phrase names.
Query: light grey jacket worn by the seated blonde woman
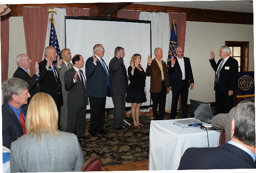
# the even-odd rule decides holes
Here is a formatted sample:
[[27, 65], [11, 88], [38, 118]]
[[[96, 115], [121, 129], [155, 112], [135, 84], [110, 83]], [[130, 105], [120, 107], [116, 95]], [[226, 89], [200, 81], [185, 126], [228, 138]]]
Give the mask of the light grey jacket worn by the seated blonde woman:
[[73, 133], [60, 135], [24, 135], [12, 142], [10, 152], [11, 172], [71, 172], [79, 171], [84, 164], [79, 141]]

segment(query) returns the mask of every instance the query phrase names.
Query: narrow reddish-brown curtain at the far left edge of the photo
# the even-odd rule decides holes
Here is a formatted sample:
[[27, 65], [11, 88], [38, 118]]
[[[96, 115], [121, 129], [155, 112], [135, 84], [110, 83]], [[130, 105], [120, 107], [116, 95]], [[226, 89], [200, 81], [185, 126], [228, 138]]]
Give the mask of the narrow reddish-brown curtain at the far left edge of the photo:
[[9, 66], [9, 14], [1, 16], [1, 82], [8, 79]]

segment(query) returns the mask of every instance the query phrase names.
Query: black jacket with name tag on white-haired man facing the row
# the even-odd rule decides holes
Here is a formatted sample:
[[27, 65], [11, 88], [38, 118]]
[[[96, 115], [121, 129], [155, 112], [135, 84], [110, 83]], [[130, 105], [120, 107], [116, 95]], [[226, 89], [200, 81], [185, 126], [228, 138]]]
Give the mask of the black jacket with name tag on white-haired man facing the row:
[[[217, 64], [215, 62], [215, 59], [212, 59], [212, 60], [210, 59], [209, 61], [211, 63], [213, 70], [217, 72], [218, 65], [221, 63], [222, 59], [220, 59]], [[216, 73], [215, 73], [215, 76], [216, 76]], [[220, 92], [228, 93], [229, 90], [235, 92], [237, 81], [238, 81], [238, 62], [234, 58], [230, 57], [222, 66], [219, 74], [218, 86], [219, 86]]]

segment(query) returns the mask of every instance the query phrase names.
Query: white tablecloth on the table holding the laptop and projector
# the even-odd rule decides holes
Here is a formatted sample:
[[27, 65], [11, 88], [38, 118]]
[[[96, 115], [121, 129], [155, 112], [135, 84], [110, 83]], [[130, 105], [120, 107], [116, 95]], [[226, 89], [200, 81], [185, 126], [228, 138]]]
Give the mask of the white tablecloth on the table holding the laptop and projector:
[[[178, 120], [151, 121], [148, 170], [177, 170], [187, 148], [208, 147], [206, 130], [200, 127], [178, 127], [173, 124]], [[220, 130], [207, 131], [209, 147], [217, 147]]]

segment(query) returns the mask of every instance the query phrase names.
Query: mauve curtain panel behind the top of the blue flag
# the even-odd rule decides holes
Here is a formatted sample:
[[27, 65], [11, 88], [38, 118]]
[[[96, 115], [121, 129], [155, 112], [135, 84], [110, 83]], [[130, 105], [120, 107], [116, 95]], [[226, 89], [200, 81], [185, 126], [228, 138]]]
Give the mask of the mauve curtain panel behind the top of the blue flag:
[[169, 13], [170, 30], [172, 30], [172, 20], [176, 20], [178, 46], [184, 49], [186, 36], [186, 13]]

